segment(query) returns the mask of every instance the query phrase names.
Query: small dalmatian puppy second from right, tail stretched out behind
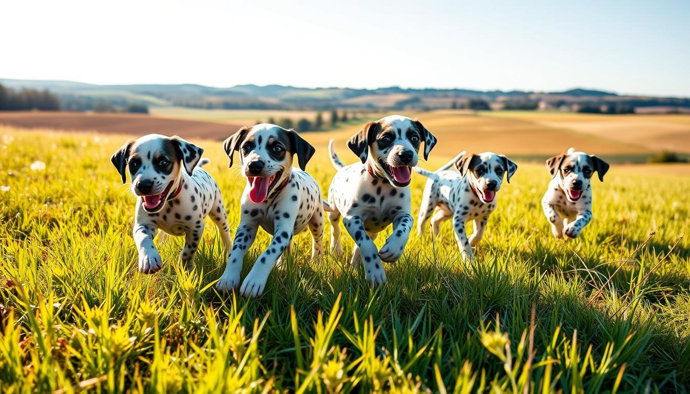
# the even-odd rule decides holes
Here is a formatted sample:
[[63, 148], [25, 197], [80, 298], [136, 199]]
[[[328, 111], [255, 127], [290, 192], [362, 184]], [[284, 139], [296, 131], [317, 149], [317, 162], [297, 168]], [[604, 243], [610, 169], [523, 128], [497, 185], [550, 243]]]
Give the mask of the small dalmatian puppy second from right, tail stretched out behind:
[[[457, 171], [451, 170], [455, 166]], [[466, 154], [461, 152], [448, 164], [435, 172], [415, 168], [420, 175], [428, 177], [422, 195], [417, 232], [424, 233], [424, 224], [431, 218], [431, 232], [438, 235], [442, 221], [453, 217], [453, 230], [457, 246], [464, 259], [473, 259], [473, 246], [484, 235], [489, 215], [496, 209], [496, 193], [501, 189], [503, 176], [511, 182], [517, 165], [505, 155], [493, 152]], [[473, 220], [474, 233], [467, 239], [465, 224]]]

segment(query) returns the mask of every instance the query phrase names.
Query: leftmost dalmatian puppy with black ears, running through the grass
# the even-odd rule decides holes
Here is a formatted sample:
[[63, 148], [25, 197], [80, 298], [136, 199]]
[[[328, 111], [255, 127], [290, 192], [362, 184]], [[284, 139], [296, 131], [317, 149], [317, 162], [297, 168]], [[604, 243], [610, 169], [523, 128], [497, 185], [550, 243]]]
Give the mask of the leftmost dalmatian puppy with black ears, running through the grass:
[[179, 259], [189, 266], [204, 234], [206, 216], [217, 226], [225, 249], [230, 249], [223, 198], [218, 184], [201, 168], [208, 163], [199, 161], [203, 152], [177, 136], [149, 134], [130, 139], [110, 158], [123, 183], [130, 173], [132, 192], [137, 195], [133, 234], [139, 272], [161, 269], [161, 255], [153, 244], [159, 229], [185, 237]]

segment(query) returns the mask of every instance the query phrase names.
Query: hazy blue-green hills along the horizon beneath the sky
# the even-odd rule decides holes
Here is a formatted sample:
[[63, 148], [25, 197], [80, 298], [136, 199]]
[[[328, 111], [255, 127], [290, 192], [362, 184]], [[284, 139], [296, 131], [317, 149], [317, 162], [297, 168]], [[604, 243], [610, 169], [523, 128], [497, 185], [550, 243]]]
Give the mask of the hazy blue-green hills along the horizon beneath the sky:
[[[513, 90], [411, 89], [391, 86], [376, 89], [299, 88], [253, 84], [215, 88], [196, 84], [94, 85], [73, 81], [0, 79], [9, 88], [48, 89], [61, 99], [63, 109], [85, 110], [99, 102], [114, 106], [184, 106], [224, 109], [319, 109], [360, 108], [372, 110], [425, 110], [466, 108], [472, 101], [495, 103], [514, 109], [562, 108], [578, 104], [607, 106], [690, 107], [690, 99], [675, 97], [622, 96], [614, 92], [573, 88], [563, 92]], [[471, 108], [471, 107], [470, 107]]]

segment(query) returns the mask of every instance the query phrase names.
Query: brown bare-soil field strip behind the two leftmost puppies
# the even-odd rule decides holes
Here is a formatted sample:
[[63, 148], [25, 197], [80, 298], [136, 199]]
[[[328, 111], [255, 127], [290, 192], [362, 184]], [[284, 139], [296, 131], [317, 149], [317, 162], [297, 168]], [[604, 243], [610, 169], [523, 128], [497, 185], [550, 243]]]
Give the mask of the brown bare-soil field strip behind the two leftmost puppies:
[[134, 114], [89, 114], [80, 112], [0, 112], [0, 124], [17, 128], [50, 128], [62, 131], [101, 132], [117, 135], [179, 135], [187, 139], [221, 140], [241, 124], [164, 119]]

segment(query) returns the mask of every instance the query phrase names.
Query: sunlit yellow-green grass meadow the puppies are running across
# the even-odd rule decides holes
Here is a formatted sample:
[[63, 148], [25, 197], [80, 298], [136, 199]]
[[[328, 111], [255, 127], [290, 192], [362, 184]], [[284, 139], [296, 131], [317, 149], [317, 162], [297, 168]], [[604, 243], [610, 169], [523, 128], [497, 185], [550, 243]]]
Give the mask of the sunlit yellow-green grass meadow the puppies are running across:
[[[443, 116], [420, 115], [454, 141], [440, 138], [426, 168], [475, 143], [443, 134]], [[469, 130], [483, 121], [469, 117]], [[134, 197], [109, 160], [126, 137], [0, 135], [2, 391], [688, 391], [690, 178], [663, 166], [612, 166], [594, 182], [593, 221], [562, 242], [540, 209], [546, 169], [519, 162], [471, 263], [446, 224], [440, 239], [411, 235], [372, 291], [349, 253], [309, 262], [303, 234], [264, 295], [244, 299], [212, 286], [224, 262], [210, 222], [194, 273], [175, 263], [174, 237], [159, 244], [161, 272], [137, 272]], [[307, 169], [327, 188], [327, 136], [305, 137], [319, 149]], [[244, 181], [218, 141], [195, 142], [233, 227]], [[423, 180], [413, 177], [415, 217]], [[268, 240], [257, 238], [243, 277]]]

